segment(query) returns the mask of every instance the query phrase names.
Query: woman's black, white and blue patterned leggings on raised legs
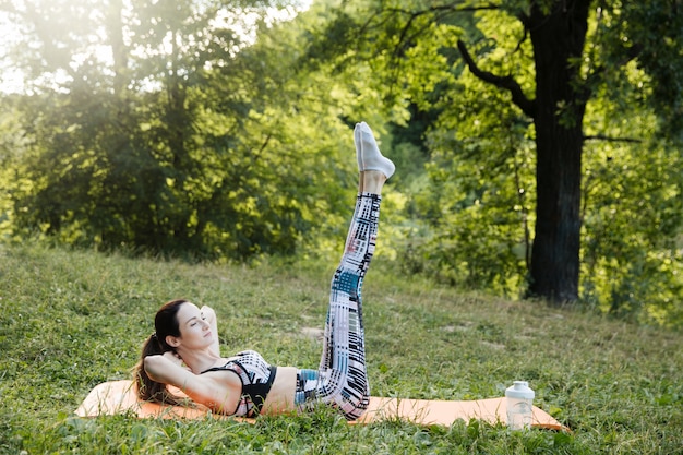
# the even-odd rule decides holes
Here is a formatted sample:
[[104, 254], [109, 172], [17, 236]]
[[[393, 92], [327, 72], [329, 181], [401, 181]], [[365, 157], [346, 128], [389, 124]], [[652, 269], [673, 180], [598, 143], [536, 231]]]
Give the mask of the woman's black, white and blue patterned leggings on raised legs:
[[324, 403], [356, 420], [368, 408], [360, 291], [374, 253], [381, 200], [378, 194], [362, 193], [356, 202], [344, 255], [332, 279], [320, 369], [298, 371], [295, 404], [300, 410]]

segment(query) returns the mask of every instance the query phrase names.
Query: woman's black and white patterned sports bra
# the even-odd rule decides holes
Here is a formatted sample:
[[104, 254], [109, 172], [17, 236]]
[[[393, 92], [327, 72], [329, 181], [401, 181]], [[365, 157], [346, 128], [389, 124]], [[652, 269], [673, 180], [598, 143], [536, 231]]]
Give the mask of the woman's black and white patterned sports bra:
[[209, 368], [202, 374], [208, 371], [231, 371], [237, 374], [242, 382], [242, 394], [232, 415], [255, 417], [271, 392], [277, 367], [268, 364], [259, 352], [244, 350], [229, 358], [223, 367]]

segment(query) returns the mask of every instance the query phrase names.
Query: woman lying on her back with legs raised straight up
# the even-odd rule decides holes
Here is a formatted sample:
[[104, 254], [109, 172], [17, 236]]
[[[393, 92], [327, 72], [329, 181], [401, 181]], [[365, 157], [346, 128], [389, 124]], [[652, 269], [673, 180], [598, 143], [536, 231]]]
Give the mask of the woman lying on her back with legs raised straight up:
[[320, 403], [348, 420], [363, 414], [370, 388], [360, 291], [374, 252], [382, 187], [394, 173], [394, 164], [382, 156], [367, 123], [356, 125], [354, 142], [359, 192], [332, 279], [320, 368], [274, 367], [251, 350], [224, 358], [214, 311], [173, 300], [157, 312], [156, 332], [143, 347], [136, 368], [141, 398], [176, 403], [166, 390], [170, 384], [213, 411], [231, 416], [305, 411]]

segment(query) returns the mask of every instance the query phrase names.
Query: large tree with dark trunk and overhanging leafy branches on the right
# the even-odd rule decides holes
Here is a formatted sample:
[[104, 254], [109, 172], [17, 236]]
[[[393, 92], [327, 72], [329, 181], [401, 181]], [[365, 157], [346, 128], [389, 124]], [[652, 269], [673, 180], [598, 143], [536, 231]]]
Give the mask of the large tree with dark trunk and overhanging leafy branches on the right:
[[[645, 82], [647, 89], [624, 99], [655, 109], [660, 132], [680, 140], [679, 8], [675, 0], [378, 0], [366, 12], [342, 10], [337, 24], [358, 22], [360, 39], [348, 47], [383, 59], [392, 69], [384, 72], [383, 83], [390, 81], [395, 94], [416, 87], [417, 80], [423, 93], [443, 95], [458, 86], [464, 62], [471, 74], [507, 95], [519, 123], [532, 122], [536, 216], [528, 290], [563, 303], [578, 299], [587, 106], [601, 87], [633, 83], [630, 62], [636, 62], [648, 75], [636, 82]], [[516, 45], [510, 46], [504, 36], [516, 36]], [[454, 37], [462, 60], [453, 53]], [[440, 108], [450, 109], [443, 104]]]

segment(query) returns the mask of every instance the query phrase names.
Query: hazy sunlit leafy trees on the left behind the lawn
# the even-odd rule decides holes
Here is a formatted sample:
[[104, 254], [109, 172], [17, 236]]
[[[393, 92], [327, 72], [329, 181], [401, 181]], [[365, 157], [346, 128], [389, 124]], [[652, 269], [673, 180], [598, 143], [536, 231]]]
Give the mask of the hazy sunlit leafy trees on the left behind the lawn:
[[290, 71], [300, 31], [267, 36], [269, 8], [286, 4], [3, 4], [35, 41], [14, 62], [31, 95], [16, 101], [21, 172], [2, 183], [13, 229], [193, 256], [292, 252], [334, 216], [351, 168], [336, 159], [349, 136], [322, 96], [334, 91]]

